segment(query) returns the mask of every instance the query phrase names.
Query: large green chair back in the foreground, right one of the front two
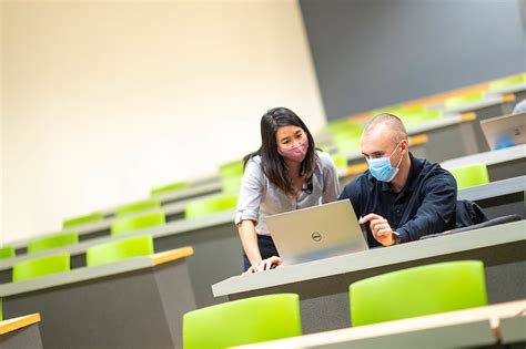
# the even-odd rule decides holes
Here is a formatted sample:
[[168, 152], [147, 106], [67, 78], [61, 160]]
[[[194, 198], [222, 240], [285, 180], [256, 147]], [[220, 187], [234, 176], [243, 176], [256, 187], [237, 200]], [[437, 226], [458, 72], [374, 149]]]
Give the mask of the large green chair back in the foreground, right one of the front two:
[[353, 326], [393, 321], [487, 305], [484, 265], [438, 263], [351, 284]]

